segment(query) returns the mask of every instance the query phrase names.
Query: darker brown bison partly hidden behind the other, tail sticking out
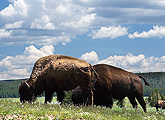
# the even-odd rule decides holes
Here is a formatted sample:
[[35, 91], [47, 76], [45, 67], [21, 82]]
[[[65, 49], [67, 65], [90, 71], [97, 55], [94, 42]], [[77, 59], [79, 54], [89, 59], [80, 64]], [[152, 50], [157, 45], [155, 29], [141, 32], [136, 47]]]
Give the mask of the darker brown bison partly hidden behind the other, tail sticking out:
[[[95, 83], [94, 104], [103, 105], [112, 108], [113, 98], [122, 100], [125, 97], [129, 98], [133, 108], [137, 108], [138, 102], [146, 112], [146, 103], [143, 99], [143, 85], [141, 79], [149, 86], [147, 81], [142, 76], [137, 76], [131, 72], [127, 72], [120, 68], [109, 66], [106, 64], [94, 65], [93, 68], [99, 75], [99, 79]], [[141, 78], [141, 79], [140, 79]], [[81, 88], [76, 88], [72, 93], [73, 103], [81, 103], [82, 95]]]

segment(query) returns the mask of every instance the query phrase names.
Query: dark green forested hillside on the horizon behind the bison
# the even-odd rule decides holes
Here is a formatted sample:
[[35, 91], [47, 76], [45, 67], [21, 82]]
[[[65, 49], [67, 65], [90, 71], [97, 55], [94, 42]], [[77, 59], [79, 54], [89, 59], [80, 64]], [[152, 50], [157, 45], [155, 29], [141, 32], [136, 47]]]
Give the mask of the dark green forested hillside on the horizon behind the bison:
[[[165, 72], [136, 74], [143, 76], [151, 85], [150, 87], [145, 86], [143, 82], [144, 96], [149, 96], [155, 88], [158, 88], [159, 92], [165, 95]], [[18, 98], [18, 87], [21, 84], [21, 81], [25, 80], [26, 79], [0, 81], [0, 98]]]

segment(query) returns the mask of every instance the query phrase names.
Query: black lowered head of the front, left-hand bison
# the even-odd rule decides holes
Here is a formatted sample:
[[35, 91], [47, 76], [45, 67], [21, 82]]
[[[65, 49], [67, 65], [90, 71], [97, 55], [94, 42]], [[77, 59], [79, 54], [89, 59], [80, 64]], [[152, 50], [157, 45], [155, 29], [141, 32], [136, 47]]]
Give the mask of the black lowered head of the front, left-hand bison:
[[32, 87], [30, 87], [30, 85], [28, 85], [26, 81], [24, 83], [21, 83], [18, 91], [20, 94], [21, 102], [25, 102], [25, 101], [31, 102], [33, 100]]

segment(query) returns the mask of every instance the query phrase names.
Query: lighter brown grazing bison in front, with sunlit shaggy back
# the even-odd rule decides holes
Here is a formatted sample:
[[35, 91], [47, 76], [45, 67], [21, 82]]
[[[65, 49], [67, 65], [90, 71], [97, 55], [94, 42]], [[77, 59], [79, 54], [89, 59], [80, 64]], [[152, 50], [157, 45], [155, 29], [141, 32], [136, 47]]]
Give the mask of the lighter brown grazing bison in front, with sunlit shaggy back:
[[77, 86], [81, 86], [87, 98], [87, 95], [91, 96], [89, 90], [96, 80], [97, 73], [84, 60], [63, 55], [42, 57], [35, 63], [30, 78], [20, 85], [20, 101], [32, 101], [45, 91], [45, 103], [51, 102], [54, 92], [62, 102], [64, 91]]

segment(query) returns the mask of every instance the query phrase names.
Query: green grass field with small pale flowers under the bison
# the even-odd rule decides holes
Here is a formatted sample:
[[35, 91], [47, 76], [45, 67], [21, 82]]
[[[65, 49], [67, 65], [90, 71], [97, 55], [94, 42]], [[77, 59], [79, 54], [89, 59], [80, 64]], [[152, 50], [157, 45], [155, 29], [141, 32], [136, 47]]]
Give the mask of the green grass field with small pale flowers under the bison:
[[165, 120], [165, 110], [156, 112], [155, 108], [147, 106], [144, 113], [141, 106], [132, 108], [128, 100], [125, 107], [119, 108], [114, 104], [112, 109], [100, 106], [77, 107], [74, 105], [53, 104], [45, 105], [44, 98], [38, 98], [36, 102], [21, 104], [18, 98], [0, 99], [1, 119], [29, 119], [29, 120], [52, 120], [52, 119], [90, 119], [90, 120]]

